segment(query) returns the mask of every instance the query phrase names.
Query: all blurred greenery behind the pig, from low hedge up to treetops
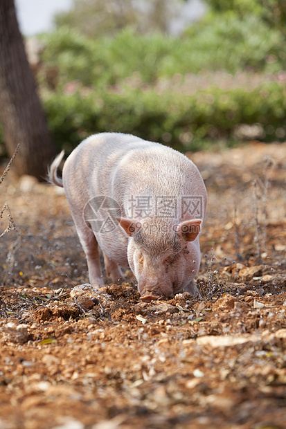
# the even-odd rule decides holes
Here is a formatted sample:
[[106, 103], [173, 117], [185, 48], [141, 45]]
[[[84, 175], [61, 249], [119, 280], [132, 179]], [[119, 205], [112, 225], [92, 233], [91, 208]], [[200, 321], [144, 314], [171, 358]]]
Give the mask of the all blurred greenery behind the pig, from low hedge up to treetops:
[[286, 0], [75, 0], [33, 70], [57, 148], [102, 131], [176, 149], [285, 140]]

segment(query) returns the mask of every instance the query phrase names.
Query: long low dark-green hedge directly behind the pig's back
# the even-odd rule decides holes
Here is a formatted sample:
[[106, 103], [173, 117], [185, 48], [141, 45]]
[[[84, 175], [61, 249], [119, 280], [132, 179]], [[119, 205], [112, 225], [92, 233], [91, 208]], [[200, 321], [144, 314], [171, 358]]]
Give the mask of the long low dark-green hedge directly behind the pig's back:
[[276, 82], [253, 91], [210, 87], [188, 97], [171, 87], [160, 94], [129, 87], [118, 93], [82, 90], [44, 95], [57, 145], [68, 152], [83, 138], [102, 131], [132, 133], [183, 151], [202, 148], [204, 141], [231, 141], [240, 123], [260, 123], [266, 140], [285, 136], [286, 89]]

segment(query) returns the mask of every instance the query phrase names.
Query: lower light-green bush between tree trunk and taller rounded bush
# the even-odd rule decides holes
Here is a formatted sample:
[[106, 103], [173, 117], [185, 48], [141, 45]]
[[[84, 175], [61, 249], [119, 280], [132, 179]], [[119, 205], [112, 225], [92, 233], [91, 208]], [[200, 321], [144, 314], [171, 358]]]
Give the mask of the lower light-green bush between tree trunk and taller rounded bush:
[[140, 71], [145, 82], [152, 82], [174, 43], [159, 34], [135, 35], [130, 28], [114, 38], [93, 41], [64, 27], [43, 40], [47, 46], [43, 60], [58, 67], [61, 82], [80, 79], [83, 84], [95, 86], [115, 84], [134, 71]]

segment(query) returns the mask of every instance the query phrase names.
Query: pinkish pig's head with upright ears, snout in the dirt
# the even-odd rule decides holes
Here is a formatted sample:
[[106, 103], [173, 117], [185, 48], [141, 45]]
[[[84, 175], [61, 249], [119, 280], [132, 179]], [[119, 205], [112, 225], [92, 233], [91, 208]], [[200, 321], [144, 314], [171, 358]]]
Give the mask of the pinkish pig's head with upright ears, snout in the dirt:
[[[119, 220], [119, 219], [118, 219]], [[144, 219], [120, 219], [129, 236], [129, 266], [138, 281], [141, 300], [172, 297], [184, 291], [199, 269], [199, 234], [201, 219], [183, 221], [177, 226]]]

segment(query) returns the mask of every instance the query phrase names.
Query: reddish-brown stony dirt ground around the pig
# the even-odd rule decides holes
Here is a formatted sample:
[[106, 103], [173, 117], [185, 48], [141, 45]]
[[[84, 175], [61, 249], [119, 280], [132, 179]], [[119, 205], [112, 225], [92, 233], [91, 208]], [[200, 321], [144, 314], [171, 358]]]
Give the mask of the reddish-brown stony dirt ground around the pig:
[[1, 429], [286, 428], [286, 143], [190, 158], [209, 201], [202, 298], [150, 304], [129, 271], [75, 287], [87, 267], [64, 194], [8, 173]]

